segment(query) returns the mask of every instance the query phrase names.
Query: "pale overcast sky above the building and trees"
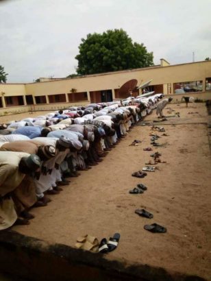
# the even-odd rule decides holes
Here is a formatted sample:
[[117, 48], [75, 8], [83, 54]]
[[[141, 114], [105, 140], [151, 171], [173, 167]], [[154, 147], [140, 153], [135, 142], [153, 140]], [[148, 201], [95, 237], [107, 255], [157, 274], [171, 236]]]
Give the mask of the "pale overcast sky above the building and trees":
[[171, 64], [211, 58], [211, 0], [0, 0], [8, 82], [75, 73], [82, 38], [122, 28]]

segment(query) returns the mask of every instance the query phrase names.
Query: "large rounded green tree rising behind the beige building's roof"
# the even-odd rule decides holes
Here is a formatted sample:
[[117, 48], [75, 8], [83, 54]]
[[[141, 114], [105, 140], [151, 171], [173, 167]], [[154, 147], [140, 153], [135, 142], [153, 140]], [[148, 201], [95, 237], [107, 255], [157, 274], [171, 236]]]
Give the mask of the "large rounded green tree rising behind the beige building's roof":
[[79, 75], [138, 69], [153, 65], [153, 53], [143, 44], [132, 42], [123, 29], [103, 34], [88, 34], [79, 45], [77, 73]]

